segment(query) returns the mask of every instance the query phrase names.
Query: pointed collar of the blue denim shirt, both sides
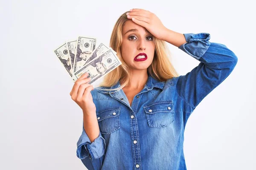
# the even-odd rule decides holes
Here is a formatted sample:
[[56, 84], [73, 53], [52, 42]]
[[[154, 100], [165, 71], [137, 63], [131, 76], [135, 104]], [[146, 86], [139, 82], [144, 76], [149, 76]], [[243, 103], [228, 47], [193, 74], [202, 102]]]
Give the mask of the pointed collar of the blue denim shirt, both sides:
[[[165, 82], [160, 82], [158, 81], [157, 79], [154, 79], [153, 77], [151, 77], [150, 75], [148, 75], [148, 80], [144, 86], [144, 88], [146, 88], [147, 90], [152, 90], [153, 88], [160, 88], [163, 90], [164, 88], [164, 85], [165, 85]], [[119, 88], [121, 85], [120, 85], [120, 82], [118, 81], [116, 83], [116, 85], [113, 85], [111, 87], [100, 87], [101, 89], [114, 89], [114, 88]], [[100, 93], [110, 93], [110, 92], [116, 92], [116, 91], [102, 91], [98, 88], [99, 92]]]

